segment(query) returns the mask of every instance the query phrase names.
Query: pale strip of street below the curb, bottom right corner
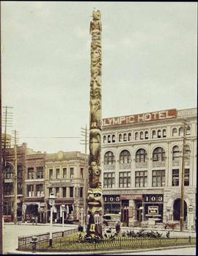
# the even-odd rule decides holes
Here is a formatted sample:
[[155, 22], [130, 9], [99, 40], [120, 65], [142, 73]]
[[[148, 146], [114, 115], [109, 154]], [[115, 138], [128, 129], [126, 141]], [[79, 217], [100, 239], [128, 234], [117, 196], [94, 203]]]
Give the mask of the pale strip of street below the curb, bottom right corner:
[[[122, 255], [122, 254], [119, 254]], [[129, 252], [124, 255], [196, 255], [196, 247], [177, 248], [177, 249], [163, 249], [157, 251], [147, 252]]]

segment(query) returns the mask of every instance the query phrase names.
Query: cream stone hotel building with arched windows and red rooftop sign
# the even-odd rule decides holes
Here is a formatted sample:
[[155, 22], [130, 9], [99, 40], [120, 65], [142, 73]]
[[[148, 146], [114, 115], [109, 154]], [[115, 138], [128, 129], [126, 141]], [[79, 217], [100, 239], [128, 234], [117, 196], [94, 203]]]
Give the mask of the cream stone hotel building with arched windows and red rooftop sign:
[[[184, 223], [196, 216], [197, 109], [169, 109], [103, 119], [101, 160], [104, 213], [128, 226], [180, 221], [183, 121]], [[190, 208], [189, 208], [190, 206]]]

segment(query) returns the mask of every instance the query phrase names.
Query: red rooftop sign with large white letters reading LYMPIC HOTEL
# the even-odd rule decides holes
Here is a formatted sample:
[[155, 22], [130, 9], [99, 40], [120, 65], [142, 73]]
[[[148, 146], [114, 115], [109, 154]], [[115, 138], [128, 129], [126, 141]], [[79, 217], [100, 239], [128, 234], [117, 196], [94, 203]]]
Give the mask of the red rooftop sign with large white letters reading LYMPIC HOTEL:
[[176, 118], [176, 117], [177, 117], [177, 110], [169, 109], [164, 111], [150, 112], [146, 114], [133, 114], [130, 116], [123, 116], [123, 117], [104, 118], [103, 126], [127, 125], [129, 123], [135, 123], [135, 122], [148, 122], [148, 121], [164, 120], [164, 119], [170, 119], [170, 118]]

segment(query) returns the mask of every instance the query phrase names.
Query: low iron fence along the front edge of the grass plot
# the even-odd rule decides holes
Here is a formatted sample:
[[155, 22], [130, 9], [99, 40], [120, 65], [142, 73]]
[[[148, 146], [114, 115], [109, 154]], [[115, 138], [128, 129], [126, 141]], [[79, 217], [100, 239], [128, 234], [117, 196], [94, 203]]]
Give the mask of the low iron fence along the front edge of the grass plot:
[[[90, 252], [90, 251], [111, 251], [116, 249], [142, 249], [165, 246], [182, 246], [196, 244], [196, 238], [172, 237], [172, 238], [129, 238], [117, 237], [115, 240], [103, 240], [99, 243], [79, 242], [76, 237], [54, 238], [53, 246], [48, 241], [37, 242], [37, 252]], [[19, 250], [31, 250], [31, 246], [21, 246]]]

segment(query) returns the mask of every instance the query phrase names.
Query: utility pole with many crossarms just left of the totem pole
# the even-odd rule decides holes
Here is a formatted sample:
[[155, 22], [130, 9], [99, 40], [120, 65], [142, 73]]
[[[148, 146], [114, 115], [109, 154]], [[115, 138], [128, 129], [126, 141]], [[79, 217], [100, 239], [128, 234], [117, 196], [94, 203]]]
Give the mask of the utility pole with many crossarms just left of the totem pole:
[[[89, 131], [87, 130], [87, 125], [85, 125], [85, 128], [81, 128], [81, 136], [84, 136], [84, 139], [81, 139], [81, 145], [85, 145], [84, 153], [87, 155], [87, 145], [88, 145], [88, 135]], [[84, 230], [86, 227], [86, 216], [87, 216], [87, 158], [85, 156], [85, 164], [84, 164], [85, 172], [84, 172]]]

